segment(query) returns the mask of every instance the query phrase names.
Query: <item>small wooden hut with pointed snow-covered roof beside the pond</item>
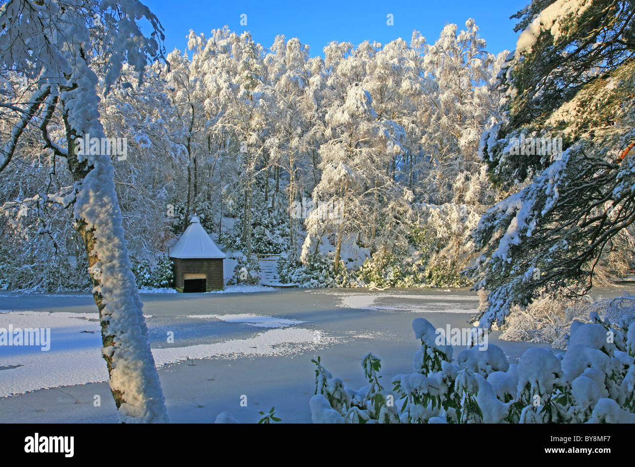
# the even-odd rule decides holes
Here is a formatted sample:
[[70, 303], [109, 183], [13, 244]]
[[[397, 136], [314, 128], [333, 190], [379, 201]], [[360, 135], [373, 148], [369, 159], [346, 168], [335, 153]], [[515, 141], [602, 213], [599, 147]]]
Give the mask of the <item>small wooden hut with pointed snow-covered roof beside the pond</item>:
[[211, 240], [196, 215], [181, 238], [170, 248], [170, 259], [174, 265], [174, 284], [178, 292], [210, 292], [224, 288], [225, 255]]

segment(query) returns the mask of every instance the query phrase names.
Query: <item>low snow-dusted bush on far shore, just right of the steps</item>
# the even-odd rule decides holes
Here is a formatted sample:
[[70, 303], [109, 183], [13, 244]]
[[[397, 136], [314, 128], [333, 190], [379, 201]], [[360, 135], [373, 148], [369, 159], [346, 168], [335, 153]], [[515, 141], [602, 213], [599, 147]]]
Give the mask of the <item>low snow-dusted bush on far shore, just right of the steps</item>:
[[340, 260], [340, 267], [335, 273], [333, 261], [326, 255], [314, 254], [302, 264], [293, 255], [278, 260], [278, 276], [283, 284], [296, 284], [298, 287], [346, 287], [348, 271]]

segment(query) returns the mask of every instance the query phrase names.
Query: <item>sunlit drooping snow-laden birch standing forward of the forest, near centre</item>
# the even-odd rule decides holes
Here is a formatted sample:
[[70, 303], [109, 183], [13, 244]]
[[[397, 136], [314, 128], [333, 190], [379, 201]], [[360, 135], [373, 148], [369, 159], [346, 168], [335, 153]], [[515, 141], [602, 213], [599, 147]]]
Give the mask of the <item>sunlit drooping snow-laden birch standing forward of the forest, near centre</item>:
[[322, 177], [313, 200], [332, 206], [332, 210], [327, 215], [315, 210], [307, 219], [302, 256], [306, 259], [311, 254], [312, 241], [319, 242], [324, 233], [333, 232], [337, 274], [344, 235], [360, 232], [366, 240], [372, 238], [372, 219], [377, 220], [373, 210], [391, 187], [387, 168], [393, 152], [400, 150], [393, 135], [401, 128], [377, 121], [370, 93], [361, 83], [349, 87], [344, 102], [335, 102], [326, 114], [326, 123], [330, 141], [320, 147]]

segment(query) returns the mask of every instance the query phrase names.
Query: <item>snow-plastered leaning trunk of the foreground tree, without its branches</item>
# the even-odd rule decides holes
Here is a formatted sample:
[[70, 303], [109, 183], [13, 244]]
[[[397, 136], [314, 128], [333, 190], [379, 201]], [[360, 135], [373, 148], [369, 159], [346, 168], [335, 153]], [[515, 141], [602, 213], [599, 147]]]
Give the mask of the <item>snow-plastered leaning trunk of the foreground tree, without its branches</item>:
[[[118, 419], [123, 423], [165, 423], [169, 419], [124, 240], [114, 168], [106, 154], [94, 156], [91, 166], [78, 157], [75, 141], [84, 135], [70, 125], [67, 109], [76, 104], [83, 93], [79, 86], [62, 91], [68, 164], [77, 190], [75, 227], [83, 239], [88, 259], [102, 330], [102, 355], [108, 367]], [[100, 128], [93, 125], [90, 130], [93, 135], [96, 126]]]

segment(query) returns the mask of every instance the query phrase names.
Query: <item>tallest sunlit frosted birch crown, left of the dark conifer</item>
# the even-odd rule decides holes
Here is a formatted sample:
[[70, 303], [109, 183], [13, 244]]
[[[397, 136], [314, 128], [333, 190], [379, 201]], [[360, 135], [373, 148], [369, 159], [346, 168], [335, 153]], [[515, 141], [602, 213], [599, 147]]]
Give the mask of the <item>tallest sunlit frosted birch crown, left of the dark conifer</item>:
[[424, 57], [429, 78], [424, 83], [427, 110], [422, 121], [424, 166], [429, 172], [424, 189], [427, 201], [437, 204], [450, 201], [458, 171], [478, 172], [474, 165], [479, 139], [493, 112], [479, 97], [497, 72], [494, 57], [485, 51], [474, 20], [467, 20], [465, 27], [458, 32], [457, 25], [446, 25]]

